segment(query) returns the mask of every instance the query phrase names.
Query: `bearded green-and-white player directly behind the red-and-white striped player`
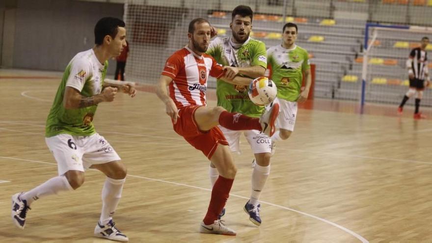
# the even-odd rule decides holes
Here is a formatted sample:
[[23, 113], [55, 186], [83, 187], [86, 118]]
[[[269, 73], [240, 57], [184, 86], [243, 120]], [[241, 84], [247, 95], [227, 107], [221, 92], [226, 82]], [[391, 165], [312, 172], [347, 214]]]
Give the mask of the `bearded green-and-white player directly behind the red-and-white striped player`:
[[[225, 66], [226, 77], [229, 79], [238, 74], [255, 79], [264, 76], [266, 71], [266, 46], [263, 42], [249, 37], [252, 17], [253, 12], [250, 7], [240, 5], [234, 8], [230, 23], [232, 36], [217, 37], [212, 40], [208, 48], [207, 54], [212, 55], [219, 64]], [[217, 106], [229, 112], [259, 117], [264, 110], [264, 107], [257, 106], [250, 101], [247, 86], [217, 81], [216, 95]], [[257, 130], [232, 131], [223, 127], [219, 128], [228, 140], [232, 152], [241, 152], [240, 135], [243, 134], [255, 155], [256, 164], [252, 171], [251, 196], [244, 210], [254, 224], [261, 225], [259, 197], [270, 175], [270, 138]], [[212, 185], [214, 185], [218, 173], [213, 164], [210, 165], [209, 174]], [[220, 216], [224, 214], [225, 209]]]

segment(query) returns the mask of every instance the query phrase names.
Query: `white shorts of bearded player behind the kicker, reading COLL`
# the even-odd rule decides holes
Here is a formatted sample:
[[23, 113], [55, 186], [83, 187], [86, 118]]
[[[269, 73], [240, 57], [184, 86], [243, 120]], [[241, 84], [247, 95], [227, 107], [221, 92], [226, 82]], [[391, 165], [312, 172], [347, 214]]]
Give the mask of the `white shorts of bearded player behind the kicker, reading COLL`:
[[241, 154], [240, 149], [240, 135], [243, 134], [246, 137], [247, 142], [250, 144], [250, 148], [254, 154], [270, 153], [271, 152], [271, 139], [265, 134], [262, 134], [258, 130], [243, 130], [233, 131], [222, 126], [219, 126], [226, 140], [229, 143], [231, 152]]

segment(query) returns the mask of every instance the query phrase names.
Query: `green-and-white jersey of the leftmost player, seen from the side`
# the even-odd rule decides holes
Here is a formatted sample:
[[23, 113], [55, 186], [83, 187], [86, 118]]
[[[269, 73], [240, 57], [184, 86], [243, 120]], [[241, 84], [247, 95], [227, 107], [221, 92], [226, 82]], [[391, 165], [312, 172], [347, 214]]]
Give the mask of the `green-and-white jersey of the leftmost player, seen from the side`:
[[72, 58], [63, 73], [47, 118], [46, 137], [58, 134], [88, 136], [96, 132], [92, 121], [97, 106], [66, 109], [63, 106], [64, 91], [66, 86], [69, 86], [80, 91], [83, 96], [100, 94], [107, 67], [108, 61], [102, 65], [93, 49], [76, 54]]

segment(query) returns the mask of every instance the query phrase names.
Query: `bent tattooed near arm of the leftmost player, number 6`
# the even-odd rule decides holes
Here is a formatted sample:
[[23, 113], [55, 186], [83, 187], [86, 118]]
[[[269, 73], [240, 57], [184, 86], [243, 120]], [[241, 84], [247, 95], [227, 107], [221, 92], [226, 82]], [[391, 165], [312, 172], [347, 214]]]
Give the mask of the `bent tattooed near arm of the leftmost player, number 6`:
[[107, 87], [102, 93], [93, 96], [83, 96], [75, 88], [66, 86], [63, 97], [63, 106], [66, 109], [78, 109], [95, 106], [101, 102], [111, 102], [114, 100], [117, 88]]

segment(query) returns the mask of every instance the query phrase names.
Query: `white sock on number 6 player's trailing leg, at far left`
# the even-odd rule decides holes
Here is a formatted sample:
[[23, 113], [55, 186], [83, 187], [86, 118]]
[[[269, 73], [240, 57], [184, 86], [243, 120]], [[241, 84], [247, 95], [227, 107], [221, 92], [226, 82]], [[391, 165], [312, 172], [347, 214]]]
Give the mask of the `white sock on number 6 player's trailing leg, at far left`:
[[53, 194], [57, 194], [60, 191], [74, 190], [66, 178], [66, 176], [61, 175], [53, 177], [50, 180], [44, 182], [43, 184], [25, 192], [20, 196], [21, 200], [26, 200], [27, 205], [30, 205], [33, 201]]

